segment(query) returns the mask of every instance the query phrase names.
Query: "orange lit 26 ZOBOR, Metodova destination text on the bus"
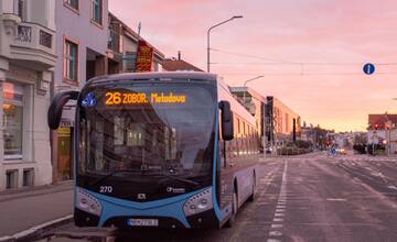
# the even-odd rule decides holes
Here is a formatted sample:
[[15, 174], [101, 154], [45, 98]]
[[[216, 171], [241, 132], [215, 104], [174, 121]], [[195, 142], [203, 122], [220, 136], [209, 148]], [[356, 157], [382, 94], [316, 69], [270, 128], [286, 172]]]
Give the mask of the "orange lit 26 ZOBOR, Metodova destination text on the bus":
[[143, 92], [124, 94], [118, 91], [106, 92], [106, 106], [118, 105], [142, 105], [142, 103], [185, 103], [186, 96], [172, 92], [151, 92], [149, 96]]

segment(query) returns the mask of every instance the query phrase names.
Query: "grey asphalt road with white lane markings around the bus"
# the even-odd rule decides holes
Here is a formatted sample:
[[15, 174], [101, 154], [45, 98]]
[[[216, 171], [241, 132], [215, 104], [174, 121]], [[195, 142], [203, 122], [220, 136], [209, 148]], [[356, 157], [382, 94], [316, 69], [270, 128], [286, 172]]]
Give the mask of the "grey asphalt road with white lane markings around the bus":
[[397, 158], [315, 153], [261, 161], [232, 229], [112, 231], [66, 224], [43, 241], [397, 241]]

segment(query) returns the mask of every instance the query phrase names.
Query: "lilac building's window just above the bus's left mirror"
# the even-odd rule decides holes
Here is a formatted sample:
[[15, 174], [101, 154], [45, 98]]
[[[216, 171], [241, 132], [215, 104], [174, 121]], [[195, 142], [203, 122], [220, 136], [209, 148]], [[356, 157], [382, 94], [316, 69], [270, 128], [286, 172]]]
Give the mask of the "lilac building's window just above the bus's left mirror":
[[78, 45], [65, 40], [64, 47], [64, 78], [77, 81], [78, 72]]

